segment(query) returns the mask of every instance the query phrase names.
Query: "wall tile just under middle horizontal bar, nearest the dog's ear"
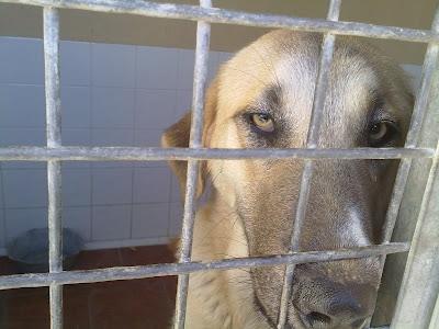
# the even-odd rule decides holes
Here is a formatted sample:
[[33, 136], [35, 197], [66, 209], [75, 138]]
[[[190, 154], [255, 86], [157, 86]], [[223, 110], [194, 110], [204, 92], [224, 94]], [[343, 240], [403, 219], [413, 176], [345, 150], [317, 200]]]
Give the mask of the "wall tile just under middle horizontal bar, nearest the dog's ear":
[[134, 169], [134, 203], [168, 202], [169, 188], [168, 168]]

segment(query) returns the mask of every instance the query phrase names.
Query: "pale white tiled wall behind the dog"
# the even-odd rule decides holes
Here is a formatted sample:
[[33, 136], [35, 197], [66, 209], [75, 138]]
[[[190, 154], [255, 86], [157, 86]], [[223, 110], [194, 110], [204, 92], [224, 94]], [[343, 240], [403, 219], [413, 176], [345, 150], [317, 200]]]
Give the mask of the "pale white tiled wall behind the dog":
[[[193, 50], [61, 42], [63, 144], [159, 146], [191, 104]], [[210, 77], [230, 55], [212, 52]], [[0, 146], [45, 145], [41, 39], [0, 37]], [[46, 166], [0, 164], [0, 253], [46, 227]], [[64, 224], [88, 248], [164, 242], [179, 234], [177, 182], [165, 162], [65, 162]]]

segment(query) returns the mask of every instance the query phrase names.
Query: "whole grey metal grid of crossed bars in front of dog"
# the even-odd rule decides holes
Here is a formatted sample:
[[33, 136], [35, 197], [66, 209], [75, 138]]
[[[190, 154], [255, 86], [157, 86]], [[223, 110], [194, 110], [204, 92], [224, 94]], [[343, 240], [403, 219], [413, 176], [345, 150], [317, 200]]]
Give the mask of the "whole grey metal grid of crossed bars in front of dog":
[[[176, 303], [175, 328], [184, 327], [189, 273], [199, 271], [227, 270], [237, 268], [286, 265], [284, 286], [281, 298], [281, 309], [278, 328], [283, 328], [286, 306], [294, 266], [299, 263], [353, 259], [365, 256], [382, 256], [404, 252], [409, 243], [390, 242], [393, 227], [402, 202], [405, 184], [412, 164], [412, 159], [430, 158], [432, 166], [424, 194], [421, 209], [418, 216], [418, 227], [415, 242], [421, 235], [423, 224], [431, 222], [429, 201], [436, 186], [439, 144], [435, 149], [417, 147], [423, 120], [429, 101], [430, 86], [437, 73], [436, 61], [439, 52], [439, 11], [430, 31], [402, 29], [397, 26], [380, 26], [357, 22], [339, 22], [341, 0], [331, 0], [327, 20], [288, 18], [279, 15], [251, 14], [212, 8], [211, 0], [201, 0], [200, 7], [154, 3], [140, 0], [0, 0], [0, 2], [38, 5], [44, 12], [44, 54], [46, 84], [46, 125], [47, 147], [9, 147], [0, 148], [0, 160], [12, 161], [47, 161], [48, 177], [48, 229], [49, 229], [49, 272], [41, 274], [21, 274], [0, 277], [0, 290], [49, 286], [50, 292], [50, 327], [63, 327], [63, 285], [115, 280], [132, 280], [151, 276], [178, 275], [178, 293]], [[59, 9], [81, 9], [100, 12], [128, 13], [156, 18], [184, 19], [198, 21], [196, 52], [192, 101], [192, 126], [189, 148], [138, 148], [138, 147], [63, 147], [60, 139], [61, 106], [59, 98]], [[306, 148], [304, 149], [206, 149], [202, 147], [203, 99], [206, 82], [207, 56], [210, 44], [210, 23], [240, 24], [264, 27], [283, 27], [300, 31], [324, 33], [316, 92], [313, 104], [312, 120], [308, 129]], [[409, 132], [404, 148], [356, 148], [356, 149], [318, 149], [319, 121], [323, 101], [327, 88], [327, 75], [330, 68], [335, 36], [357, 35], [378, 38], [428, 43], [428, 49], [423, 67], [421, 87], [416, 98]], [[439, 75], [437, 75], [439, 76]], [[439, 79], [439, 77], [436, 77]], [[204, 159], [305, 159], [302, 173], [300, 201], [291, 239], [291, 252], [270, 257], [227, 259], [213, 262], [192, 262], [191, 247], [195, 213], [195, 186], [199, 171], [199, 160]], [[396, 177], [392, 200], [386, 215], [384, 241], [379, 246], [360, 247], [341, 250], [296, 252], [301, 226], [309, 191], [309, 178], [313, 174], [313, 159], [402, 159]], [[63, 271], [61, 252], [61, 161], [66, 160], [187, 160], [188, 180], [182, 228], [182, 252], [179, 263], [157, 264], [146, 266], [124, 266], [90, 271]], [[437, 196], [436, 196], [437, 198]], [[416, 245], [417, 246], [417, 245]], [[412, 248], [408, 270], [418, 248]], [[410, 260], [412, 259], [412, 260]], [[420, 266], [417, 264], [417, 266]], [[421, 271], [419, 268], [415, 270]], [[403, 288], [409, 281], [410, 271], [406, 271]], [[408, 277], [408, 279], [407, 279]], [[403, 290], [402, 290], [403, 291]], [[406, 290], [401, 295], [407, 298]], [[405, 324], [401, 311], [402, 298], [398, 299], [397, 319], [392, 327]], [[436, 300], [436, 298], [435, 298]], [[434, 306], [431, 306], [434, 307]], [[436, 310], [437, 313], [437, 310]], [[435, 313], [435, 314], [436, 314]], [[437, 316], [436, 316], [437, 317]]]

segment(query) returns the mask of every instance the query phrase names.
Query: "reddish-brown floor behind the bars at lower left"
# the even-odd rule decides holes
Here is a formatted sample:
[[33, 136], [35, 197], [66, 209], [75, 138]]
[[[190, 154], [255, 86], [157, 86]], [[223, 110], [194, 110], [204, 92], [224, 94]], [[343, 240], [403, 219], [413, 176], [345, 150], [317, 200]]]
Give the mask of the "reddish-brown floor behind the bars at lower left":
[[[166, 246], [83, 251], [74, 270], [173, 262]], [[14, 265], [0, 258], [0, 275]], [[168, 328], [177, 277], [115, 281], [64, 287], [64, 328]], [[0, 328], [49, 328], [48, 288], [0, 291]]]

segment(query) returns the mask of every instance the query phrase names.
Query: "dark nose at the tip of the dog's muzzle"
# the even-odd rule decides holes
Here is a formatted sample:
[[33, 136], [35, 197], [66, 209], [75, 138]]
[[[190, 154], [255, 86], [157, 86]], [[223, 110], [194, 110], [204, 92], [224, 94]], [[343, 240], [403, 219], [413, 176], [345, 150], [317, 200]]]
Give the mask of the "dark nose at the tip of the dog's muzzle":
[[362, 328], [373, 306], [373, 288], [365, 284], [314, 282], [308, 297], [295, 303], [306, 328]]

